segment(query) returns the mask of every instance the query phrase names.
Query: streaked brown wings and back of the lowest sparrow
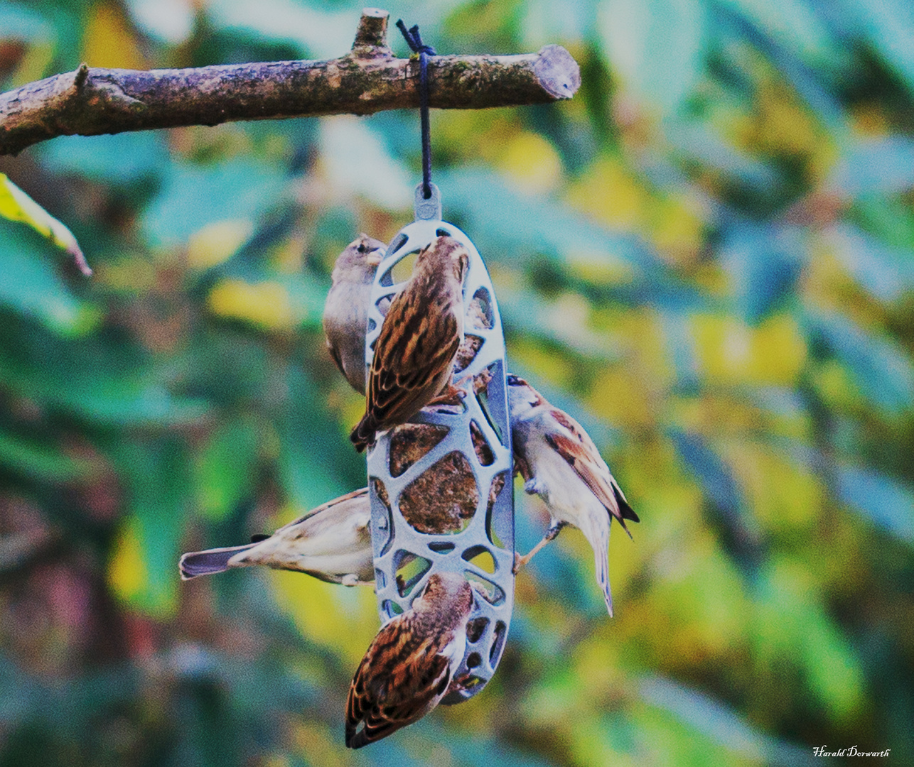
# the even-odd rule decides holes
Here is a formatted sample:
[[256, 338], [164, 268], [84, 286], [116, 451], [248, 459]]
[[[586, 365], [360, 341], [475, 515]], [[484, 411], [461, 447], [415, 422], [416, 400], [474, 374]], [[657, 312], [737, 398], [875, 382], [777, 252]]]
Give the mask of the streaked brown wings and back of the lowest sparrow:
[[[359, 664], [346, 701], [349, 748], [360, 748], [419, 720], [451, 684], [451, 661], [440, 652], [444, 637], [416, 642], [409, 617], [382, 628]], [[364, 727], [356, 732], [359, 723]]]

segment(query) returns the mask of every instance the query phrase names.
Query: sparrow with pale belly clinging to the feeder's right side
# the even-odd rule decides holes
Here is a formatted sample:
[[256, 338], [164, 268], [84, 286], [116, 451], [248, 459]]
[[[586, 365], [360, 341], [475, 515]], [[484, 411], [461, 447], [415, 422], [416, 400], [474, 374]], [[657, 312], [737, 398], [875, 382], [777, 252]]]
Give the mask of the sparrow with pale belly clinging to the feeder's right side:
[[527, 493], [546, 502], [550, 524], [542, 541], [515, 562], [523, 567], [566, 525], [584, 533], [596, 562], [597, 583], [612, 616], [609, 552], [610, 522], [614, 517], [629, 532], [625, 520], [640, 521], [629, 506], [606, 461], [587, 432], [570, 415], [553, 407], [523, 378], [507, 377], [511, 440], [515, 472]]

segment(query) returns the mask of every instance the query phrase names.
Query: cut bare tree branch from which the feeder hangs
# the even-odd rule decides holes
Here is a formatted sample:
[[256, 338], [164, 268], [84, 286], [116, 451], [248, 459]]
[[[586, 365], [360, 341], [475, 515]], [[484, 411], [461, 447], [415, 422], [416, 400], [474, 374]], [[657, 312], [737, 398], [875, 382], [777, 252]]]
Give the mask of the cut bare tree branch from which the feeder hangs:
[[[372, 114], [419, 106], [419, 62], [394, 58], [388, 12], [366, 8], [352, 50], [326, 61], [187, 69], [90, 68], [0, 94], [0, 154], [56, 136], [238, 120]], [[580, 85], [565, 48], [518, 56], [429, 58], [430, 106], [484, 109], [570, 99]]]

